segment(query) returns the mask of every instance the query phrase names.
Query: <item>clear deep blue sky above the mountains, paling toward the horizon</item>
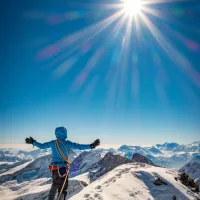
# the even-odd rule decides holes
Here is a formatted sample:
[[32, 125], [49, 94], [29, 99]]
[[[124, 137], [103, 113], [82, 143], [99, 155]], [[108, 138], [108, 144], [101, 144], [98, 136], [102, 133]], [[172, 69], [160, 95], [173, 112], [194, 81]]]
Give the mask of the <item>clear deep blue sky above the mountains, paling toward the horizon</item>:
[[52, 140], [57, 126], [80, 143], [200, 139], [199, 0], [144, 0], [137, 14], [120, 0], [1, 9], [1, 144]]

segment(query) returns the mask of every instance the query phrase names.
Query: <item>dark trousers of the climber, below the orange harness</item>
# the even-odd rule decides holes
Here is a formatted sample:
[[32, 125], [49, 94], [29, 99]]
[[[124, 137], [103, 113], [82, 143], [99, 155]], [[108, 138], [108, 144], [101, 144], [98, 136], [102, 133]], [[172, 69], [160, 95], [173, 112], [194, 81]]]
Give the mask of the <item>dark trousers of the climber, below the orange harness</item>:
[[[62, 189], [64, 181], [65, 181], [65, 177], [66, 177], [66, 175], [65, 176], [63, 176], [63, 175], [67, 173], [66, 171], [67, 171], [66, 167], [60, 168], [59, 172], [58, 172], [58, 170], [52, 171], [53, 183], [51, 185], [51, 189], [49, 192], [49, 200], [55, 199], [55, 195], [56, 195], [57, 191], [58, 191], [58, 193], [61, 192], [61, 189]], [[66, 180], [65, 185], [62, 190], [62, 195], [64, 196], [64, 199], [67, 196], [67, 188], [68, 188], [68, 175], [67, 175], [67, 180]]]

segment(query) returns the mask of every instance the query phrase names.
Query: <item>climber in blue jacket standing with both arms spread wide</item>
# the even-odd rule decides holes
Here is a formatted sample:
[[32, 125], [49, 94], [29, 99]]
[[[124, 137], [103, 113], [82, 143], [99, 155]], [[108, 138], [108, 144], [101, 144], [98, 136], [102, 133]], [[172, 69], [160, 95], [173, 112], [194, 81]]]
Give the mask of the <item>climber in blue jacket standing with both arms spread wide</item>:
[[49, 192], [48, 200], [54, 200], [58, 191], [58, 199], [65, 200], [67, 196], [68, 188], [68, 173], [70, 168], [70, 162], [68, 160], [68, 154], [71, 149], [94, 149], [100, 145], [100, 140], [95, 140], [92, 144], [77, 144], [67, 139], [67, 129], [65, 127], [57, 127], [55, 129], [56, 140], [50, 142], [39, 143], [32, 137], [26, 138], [27, 144], [32, 144], [40, 149], [51, 148], [52, 160], [49, 165], [49, 169], [52, 173], [52, 185]]

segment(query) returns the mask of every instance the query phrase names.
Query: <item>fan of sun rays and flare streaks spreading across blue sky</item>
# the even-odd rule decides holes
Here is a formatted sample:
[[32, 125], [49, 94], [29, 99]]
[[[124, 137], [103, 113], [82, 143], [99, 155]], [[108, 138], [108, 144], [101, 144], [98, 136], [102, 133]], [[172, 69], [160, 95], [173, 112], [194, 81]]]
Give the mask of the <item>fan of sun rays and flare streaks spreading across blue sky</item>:
[[[184, 27], [178, 18], [171, 22], [174, 15], [187, 14], [181, 6], [174, 4], [174, 2], [178, 4], [182, 1], [185, 0], [116, 0], [115, 4], [95, 4], [94, 9], [91, 9], [94, 7], [93, 4], [90, 6], [87, 4], [86, 7], [89, 10], [85, 9], [84, 12], [79, 12], [78, 9], [68, 13], [62, 11], [49, 15], [35, 11], [30, 12], [26, 17], [31, 20], [41, 19], [50, 25], [58, 25], [61, 22], [92, 16], [94, 10], [94, 17], [101, 15], [87, 27], [66, 34], [53, 43], [45, 42], [47, 46], [43, 47], [36, 57], [37, 60], [47, 63], [48, 66], [55, 66], [53, 75], [59, 78], [72, 68], [76, 68], [79, 60], [85, 55], [86, 57], [89, 55], [88, 59], [84, 60], [81, 69], [77, 70], [71, 82], [72, 86], [69, 88], [75, 92], [83, 91], [86, 96], [89, 96], [96, 87], [104, 84], [106, 85], [106, 100], [112, 106], [123, 102], [127, 91], [137, 102], [142, 90], [141, 82], [145, 76], [145, 71], [141, 66], [144, 60], [141, 52], [143, 52], [144, 46], [148, 46], [150, 50], [150, 45], [155, 42], [151, 46], [154, 54], [150, 58], [157, 67], [158, 76], [154, 78], [155, 91], [160, 100], [168, 102], [166, 88], [167, 82], [170, 82], [170, 75], [167, 64], [162, 63], [163, 52], [170, 61], [173, 61], [174, 67], [178, 68], [177, 71], [184, 72], [191, 82], [200, 87], [199, 71], [194, 68], [191, 59], [184, 55], [182, 49], [178, 48], [176, 42], [183, 44], [187, 51], [195, 53], [200, 52], [200, 43], [198, 39], [195, 41], [195, 38], [189, 38], [186, 32], [178, 31], [173, 27], [177, 24], [181, 30], [184, 28], [192, 32], [199, 32], [199, 30], [194, 26]], [[173, 14], [170, 16], [168, 8], [166, 8], [166, 4], [169, 3], [172, 3], [170, 9]], [[98, 12], [96, 12], [97, 10]], [[99, 39], [101, 40], [104, 35], [105, 39], [99, 43]], [[156, 53], [158, 49], [161, 51]], [[108, 50], [110, 57], [107, 59]], [[105, 59], [107, 62], [105, 66], [99, 64], [104, 57], [107, 59]], [[46, 61], [48, 59], [51, 61], [50, 63]], [[147, 64], [147, 67], [150, 66]], [[96, 76], [94, 80], [93, 76]], [[127, 79], [130, 80], [127, 81]], [[127, 83], [129, 83], [128, 87]], [[128, 89], [126, 90], [126, 88]]]

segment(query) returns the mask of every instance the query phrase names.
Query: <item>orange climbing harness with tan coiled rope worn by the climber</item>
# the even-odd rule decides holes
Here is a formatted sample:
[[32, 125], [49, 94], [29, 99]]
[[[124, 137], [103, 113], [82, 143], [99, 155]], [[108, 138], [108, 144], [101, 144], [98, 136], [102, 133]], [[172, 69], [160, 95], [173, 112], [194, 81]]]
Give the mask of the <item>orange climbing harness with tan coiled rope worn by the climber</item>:
[[[60, 149], [59, 144], [61, 144], [62, 146], [64, 146], [64, 148], [65, 148], [65, 150], [66, 150], [67, 156], [66, 156], [66, 155], [63, 153], [63, 151]], [[69, 159], [68, 159], [68, 149], [67, 149], [67, 147], [66, 147], [61, 141], [59, 141], [59, 140], [55, 140], [55, 147], [56, 147], [56, 151], [57, 151], [58, 155], [59, 155], [59, 156], [66, 162], [66, 164], [67, 164], [66, 173], [63, 174], [63, 175], [60, 174], [60, 171], [59, 171], [60, 168], [59, 168], [58, 166], [49, 165], [49, 169], [51, 170], [51, 173], [52, 173], [53, 170], [57, 170], [57, 171], [58, 171], [58, 175], [59, 175], [61, 178], [63, 178], [63, 177], [65, 176], [65, 180], [64, 180], [64, 182], [63, 182], [61, 191], [60, 191], [59, 196], [58, 196], [58, 200], [60, 200], [61, 195], [62, 195], [63, 188], [64, 188], [65, 183], [66, 183], [67, 178], [68, 178], [68, 174], [69, 174], [69, 171], [70, 171], [70, 164], [71, 164], [71, 163], [70, 163], [70, 161], [69, 161]]]

